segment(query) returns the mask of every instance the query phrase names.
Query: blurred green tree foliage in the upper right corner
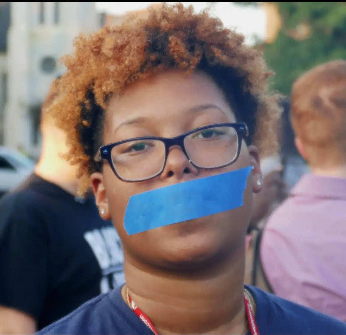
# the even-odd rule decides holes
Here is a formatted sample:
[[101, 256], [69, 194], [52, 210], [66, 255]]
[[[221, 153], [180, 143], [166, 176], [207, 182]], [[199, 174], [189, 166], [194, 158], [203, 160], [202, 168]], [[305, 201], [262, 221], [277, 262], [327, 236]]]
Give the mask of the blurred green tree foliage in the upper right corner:
[[[236, 2], [257, 5], [257, 2]], [[329, 60], [346, 59], [346, 2], [273, 2], [282, 28], [264, 56], [276, 72], [273, 85], [289, 94], [303, 72]]]

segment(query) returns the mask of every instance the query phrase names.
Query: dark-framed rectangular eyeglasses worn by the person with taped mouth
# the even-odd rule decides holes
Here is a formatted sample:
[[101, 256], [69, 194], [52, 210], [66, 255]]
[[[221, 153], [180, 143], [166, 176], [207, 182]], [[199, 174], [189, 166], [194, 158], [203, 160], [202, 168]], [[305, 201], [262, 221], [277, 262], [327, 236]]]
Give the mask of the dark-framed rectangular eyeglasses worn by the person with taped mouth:
[[162, 173], [173, 146], [179, 146], [196, 168], [228, 166], [238, 159], [246, 136], [245, 123], [213, 124], [173, 138], [146, 136], [107, 144], [100, 147], [95, 161], [106, 159], [119, 179], [140, 182]]

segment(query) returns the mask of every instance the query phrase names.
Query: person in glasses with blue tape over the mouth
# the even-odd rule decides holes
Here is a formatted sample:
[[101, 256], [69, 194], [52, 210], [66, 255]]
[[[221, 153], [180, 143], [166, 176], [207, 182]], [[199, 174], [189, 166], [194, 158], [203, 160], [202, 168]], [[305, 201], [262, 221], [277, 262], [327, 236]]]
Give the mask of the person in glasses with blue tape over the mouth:
[[207, 11], [163, 4], [75, 40], [52, 106], [126, 284], [37, 334], [345, 334], [341, 321], [244, 285], [260, 155], [280, 96], [260, 51]]

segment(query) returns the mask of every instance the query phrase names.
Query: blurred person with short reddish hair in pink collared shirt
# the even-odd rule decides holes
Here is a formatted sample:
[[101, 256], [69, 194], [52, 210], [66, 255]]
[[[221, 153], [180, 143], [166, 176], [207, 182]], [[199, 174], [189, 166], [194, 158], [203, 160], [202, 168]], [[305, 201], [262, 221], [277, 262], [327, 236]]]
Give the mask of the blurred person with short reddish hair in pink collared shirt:
[[280, 297], [346, 321], [346, 61], [292, 87], [295, 143], [311, 173], [266, 223], [261, 262]]

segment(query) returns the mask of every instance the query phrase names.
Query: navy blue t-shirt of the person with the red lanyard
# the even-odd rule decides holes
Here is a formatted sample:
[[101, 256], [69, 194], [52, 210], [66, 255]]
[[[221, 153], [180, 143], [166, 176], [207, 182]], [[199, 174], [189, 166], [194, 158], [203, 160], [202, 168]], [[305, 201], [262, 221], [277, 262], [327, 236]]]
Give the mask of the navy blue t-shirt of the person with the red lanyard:
[[[346, 334], [346, 323], [246, 286], [256, 301], [260, 334]], [[121, 288], [101, 294], [37, 334], [153, 334], [122, 299]]]

